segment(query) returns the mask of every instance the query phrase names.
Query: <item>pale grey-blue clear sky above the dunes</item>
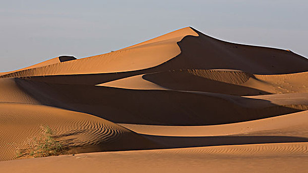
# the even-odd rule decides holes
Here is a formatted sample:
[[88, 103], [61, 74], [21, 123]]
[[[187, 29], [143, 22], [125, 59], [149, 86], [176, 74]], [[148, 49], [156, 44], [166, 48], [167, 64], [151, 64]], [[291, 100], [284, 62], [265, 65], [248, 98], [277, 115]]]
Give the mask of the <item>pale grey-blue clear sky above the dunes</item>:
[[0, 72], [83, 58], [191, 26], [308, 57], [307, 0], [0, 0]]

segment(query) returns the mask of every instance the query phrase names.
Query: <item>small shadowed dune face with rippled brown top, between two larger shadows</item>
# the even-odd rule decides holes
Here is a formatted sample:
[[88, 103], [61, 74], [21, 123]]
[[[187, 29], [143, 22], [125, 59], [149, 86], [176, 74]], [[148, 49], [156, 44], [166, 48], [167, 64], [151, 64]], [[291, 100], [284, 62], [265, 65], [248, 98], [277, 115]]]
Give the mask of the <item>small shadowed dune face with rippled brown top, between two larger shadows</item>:
[[254, 76], [238, 71], [185, 70], [146, 74], [143, 79], [174, 90], [215, 92], [230, 95], [269, 94], [243, 86]]

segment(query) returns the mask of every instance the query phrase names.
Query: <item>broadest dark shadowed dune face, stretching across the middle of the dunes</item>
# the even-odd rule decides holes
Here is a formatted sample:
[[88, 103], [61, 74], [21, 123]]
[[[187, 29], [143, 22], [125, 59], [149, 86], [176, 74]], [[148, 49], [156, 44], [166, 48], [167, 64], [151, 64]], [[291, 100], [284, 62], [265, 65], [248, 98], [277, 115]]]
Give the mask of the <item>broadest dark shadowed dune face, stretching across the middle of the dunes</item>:
[[116, 123], [183, 126], [224, 124], [298, 112], [306, 110], [308, 105], [305, 100], [277, 105], [265, 99], [208, 92], [131, 90], [20, 79], [16, 79], [16, 82], [43, 105], [89, 113]]

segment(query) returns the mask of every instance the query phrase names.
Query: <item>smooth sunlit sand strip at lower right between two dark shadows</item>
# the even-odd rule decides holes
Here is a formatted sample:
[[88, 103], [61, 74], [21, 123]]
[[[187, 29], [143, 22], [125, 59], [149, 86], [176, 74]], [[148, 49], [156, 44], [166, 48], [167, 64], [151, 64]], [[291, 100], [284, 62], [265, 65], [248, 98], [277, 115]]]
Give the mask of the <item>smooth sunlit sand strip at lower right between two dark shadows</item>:
[[212, 126], [119, 125], [140, 134], [160, 136], [255, 135], [266, 130], [267, 135], [290, 135], [293, 132], [296, 136], [308, 137], [308, 133], [301, 133], [301, 131], [308, 131], [308, 111], [261, 120]]

